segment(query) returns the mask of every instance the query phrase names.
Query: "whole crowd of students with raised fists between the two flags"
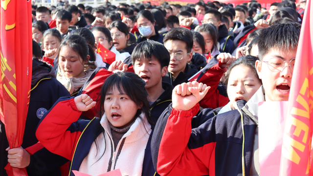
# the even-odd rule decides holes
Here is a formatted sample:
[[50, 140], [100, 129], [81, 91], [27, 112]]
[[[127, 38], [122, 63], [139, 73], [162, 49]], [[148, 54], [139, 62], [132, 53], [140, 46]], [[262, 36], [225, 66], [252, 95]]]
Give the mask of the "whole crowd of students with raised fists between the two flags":
[[23, 143], [0, 122], [0, 175], [260, 175], [258, 102], [288, 101], [305, 3], [33, 6]]

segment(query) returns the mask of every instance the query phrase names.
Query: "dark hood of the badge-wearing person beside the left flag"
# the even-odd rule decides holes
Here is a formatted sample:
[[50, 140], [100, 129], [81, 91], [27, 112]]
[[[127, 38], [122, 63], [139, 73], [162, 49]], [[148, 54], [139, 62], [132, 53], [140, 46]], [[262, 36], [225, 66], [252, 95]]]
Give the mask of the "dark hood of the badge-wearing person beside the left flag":
[[52, 66], [39, 60], [38, 58], [33, 58], [31, 87], [33, 88], [39, 80], [46, 76], [51, 76], [55, 78], [55, 73], [54, 69], [52, 69]]

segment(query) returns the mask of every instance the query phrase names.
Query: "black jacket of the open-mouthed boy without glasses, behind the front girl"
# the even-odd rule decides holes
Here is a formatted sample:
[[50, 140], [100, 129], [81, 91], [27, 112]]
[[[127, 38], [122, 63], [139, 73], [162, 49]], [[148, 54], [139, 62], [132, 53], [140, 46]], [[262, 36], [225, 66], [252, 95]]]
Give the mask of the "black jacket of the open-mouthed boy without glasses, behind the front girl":
[[153, 117], [155, 123], [161, 113], [172, 103], [173, 86], [167, 82], [162, 82], [162, 88], [165, 91], [150, 106], [150, 114]]

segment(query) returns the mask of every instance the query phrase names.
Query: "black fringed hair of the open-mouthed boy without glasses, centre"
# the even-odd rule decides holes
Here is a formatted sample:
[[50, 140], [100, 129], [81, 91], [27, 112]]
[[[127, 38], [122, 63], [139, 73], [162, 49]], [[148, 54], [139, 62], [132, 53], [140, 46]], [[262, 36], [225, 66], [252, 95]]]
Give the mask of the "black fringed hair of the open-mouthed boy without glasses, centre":
[[131, 56], [132, 64], [134, 66], [135, 61], [140, 60], [141, 57], [144, 57], [147, 60], [151, 60], [152, 56], [154, 56], [159, 61], [161, 69], [164, 66], [168, 66], [170, 64], [170, 53], [163, 44], [153, 40], [147, 40], [137, 44]]

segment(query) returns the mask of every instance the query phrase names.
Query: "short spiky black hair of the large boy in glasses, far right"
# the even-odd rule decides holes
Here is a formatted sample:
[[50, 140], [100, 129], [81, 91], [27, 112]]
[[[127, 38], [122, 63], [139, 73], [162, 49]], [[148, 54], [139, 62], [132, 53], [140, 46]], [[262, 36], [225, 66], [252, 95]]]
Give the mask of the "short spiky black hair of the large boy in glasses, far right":
[[296, 22], [272, 25], [262, 29], [258, 40], [259, 58], [268, 54], [272, 49], [297, 49], [301, 24]]

